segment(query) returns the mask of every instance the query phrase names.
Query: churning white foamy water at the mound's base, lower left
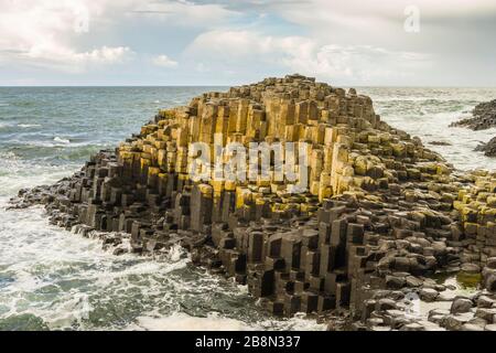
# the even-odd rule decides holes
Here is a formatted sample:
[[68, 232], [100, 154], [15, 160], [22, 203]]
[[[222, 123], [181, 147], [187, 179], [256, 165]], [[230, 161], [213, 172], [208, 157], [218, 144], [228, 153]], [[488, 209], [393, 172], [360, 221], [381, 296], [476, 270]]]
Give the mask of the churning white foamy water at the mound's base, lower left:
[[[96, 238], [48, 225], [41, 206], [6, 211], [6, 205], [7, 197], [0, 197], [0, 274], [11, 278], [0, 287], [0, 307], [7, 308], [0, 320], [31, 313], [50, 329], [119, 330], [122, 328], [115, 321], [106, 322], [105, 315], [97, 323], [91, 317], [105, 310], [110, 310], [111, 317], [108, 306], [122, 302], [142, 310], [138, 319], [129, 318], [129, 330], [320, 329], [305, 319], [250, 322], [259, 309], [249, 300], [246, 286], [190, 268], [191, 258], [180, 246], [157, 259], [114, 256], [103, 250]], [[224, 300], [246, 302], [246, 312], [251, 314], [225, 317], [204, 308], [218, 301], [212, 307], [217, 308]], [[198, 314], [184, 313], [180, 302], [194, 312], [200, 310]], [[153, 308], [162, 312], [150, 311]]]

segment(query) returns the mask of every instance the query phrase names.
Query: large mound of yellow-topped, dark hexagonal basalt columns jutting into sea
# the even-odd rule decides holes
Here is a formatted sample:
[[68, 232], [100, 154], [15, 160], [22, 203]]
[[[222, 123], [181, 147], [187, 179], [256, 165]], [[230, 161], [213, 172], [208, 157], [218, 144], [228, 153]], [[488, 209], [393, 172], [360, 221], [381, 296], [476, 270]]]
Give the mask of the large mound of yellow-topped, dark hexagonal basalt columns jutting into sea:
[[[290, 192], [273, 165], [269, 180], [193, 181], [188, 146], [213, 146], [216, 133], [224, 147], [304, 142], [308, 190]], [[13, 207], [44, 204], [66, 229], [111, 232], [103, 240], [116, 255], [180, 243], [276, 315], [317, 313], [330, 329], [496, 330], [496, 175], [456, 173], [355, 89], [289, 75], [204, 94], [19, 196]], [[473, 295], [435, 280], [445, 274]]]

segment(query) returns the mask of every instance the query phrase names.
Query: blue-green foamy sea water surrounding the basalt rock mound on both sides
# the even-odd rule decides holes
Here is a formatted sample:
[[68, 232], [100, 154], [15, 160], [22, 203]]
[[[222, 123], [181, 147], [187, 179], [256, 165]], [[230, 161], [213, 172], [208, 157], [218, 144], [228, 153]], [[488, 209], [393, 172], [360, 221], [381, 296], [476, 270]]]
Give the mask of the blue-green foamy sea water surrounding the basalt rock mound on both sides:
[[[55, 226], [42, 207], [7, 211], [19, 189], [69, 175], [139, 131], [159, 108], [224, 87], [0, 87], [0, 330], [323, 330], [311, 318], [270, 318], [247, 288], [168, 257], [114, 256]], [[495, 129], [448, 126], [496, 88], [374, 88], [382, 119], [419, 136], [461, 170], [496, 169], [473, 149]]]

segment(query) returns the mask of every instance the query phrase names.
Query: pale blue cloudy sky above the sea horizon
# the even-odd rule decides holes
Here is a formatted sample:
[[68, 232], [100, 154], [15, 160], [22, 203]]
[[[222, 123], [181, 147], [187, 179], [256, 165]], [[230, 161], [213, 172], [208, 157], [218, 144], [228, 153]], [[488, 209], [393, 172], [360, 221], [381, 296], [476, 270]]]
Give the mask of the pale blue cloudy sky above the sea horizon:
[[0, 0], [0, 85], [496, 86], [495, 0]]

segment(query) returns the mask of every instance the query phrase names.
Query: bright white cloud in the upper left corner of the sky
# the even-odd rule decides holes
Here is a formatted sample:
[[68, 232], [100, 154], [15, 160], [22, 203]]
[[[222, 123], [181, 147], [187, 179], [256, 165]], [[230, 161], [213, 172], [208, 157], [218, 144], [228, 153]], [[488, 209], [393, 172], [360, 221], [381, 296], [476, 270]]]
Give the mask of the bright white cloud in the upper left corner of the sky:
[[[101, 4], [100, 4], [101, 6]], [[89, 30], [89, 15], [101, 12], [88, 1], [0, 1], [0, 60], [13, 65], [80, 72], [89, 66], [121, 63], [128, 46], [77, 50], [72, 42]]]

